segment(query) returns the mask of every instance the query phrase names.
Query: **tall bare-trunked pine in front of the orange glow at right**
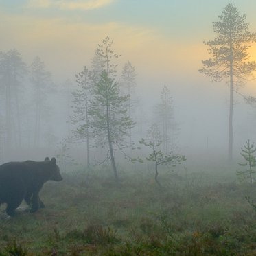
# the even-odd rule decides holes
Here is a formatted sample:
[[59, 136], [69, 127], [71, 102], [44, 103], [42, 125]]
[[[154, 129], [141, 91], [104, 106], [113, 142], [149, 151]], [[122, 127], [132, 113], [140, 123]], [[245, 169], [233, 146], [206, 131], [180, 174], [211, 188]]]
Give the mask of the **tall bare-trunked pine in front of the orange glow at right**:
[[244, 83], [256, 69], [256, 62], [248, 61], [250, 44], [256, 42], [256, 34], [248, 32], [246, 15], [240, 15], [233, 3], [226, 5], [220, 21], [213, 22], [214, 40], [204, 42], [212, 58], [203, 60], [200, 73], [212, 82], [229, 82], [229, 160], [233, 157], [233, 91]]

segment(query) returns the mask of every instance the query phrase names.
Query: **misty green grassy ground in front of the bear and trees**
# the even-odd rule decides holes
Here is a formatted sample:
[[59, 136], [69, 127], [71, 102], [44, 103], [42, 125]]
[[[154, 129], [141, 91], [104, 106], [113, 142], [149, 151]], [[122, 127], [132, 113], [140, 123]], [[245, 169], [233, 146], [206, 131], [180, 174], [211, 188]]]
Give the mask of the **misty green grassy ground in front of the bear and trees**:
[[[256, 185], [237, 165], [175, 172], [72, 171], [45, 184], [46, 208], [0, 215], [0, 255], [256, 255]], [[22, 205], [25, 207], [25, 205]]]

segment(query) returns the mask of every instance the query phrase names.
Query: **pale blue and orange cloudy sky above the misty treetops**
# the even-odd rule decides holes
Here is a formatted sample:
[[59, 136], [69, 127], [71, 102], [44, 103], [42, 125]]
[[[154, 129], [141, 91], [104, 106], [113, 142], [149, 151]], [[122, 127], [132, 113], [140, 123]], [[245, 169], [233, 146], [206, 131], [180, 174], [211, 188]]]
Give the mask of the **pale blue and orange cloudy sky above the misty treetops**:
[[[223, 0], [0, 0], [0, 48], [2, 51], [15, 48], [28, 62], [38, 55], [56, 75], [63, 70], [72, 75], [90, 65], [97, 44], [110, 36], [122, 61], [130, 60], [143, 73], [179, 75], [186, 69], [195, 76], [197, 68], [191, 66], [200, 67], [200, 60], [206, 56], [202, 41], [214, 36], [212, 22], [227, 3]], [[252, 13], [256, 2], [234, 3], [256, 29]]]

